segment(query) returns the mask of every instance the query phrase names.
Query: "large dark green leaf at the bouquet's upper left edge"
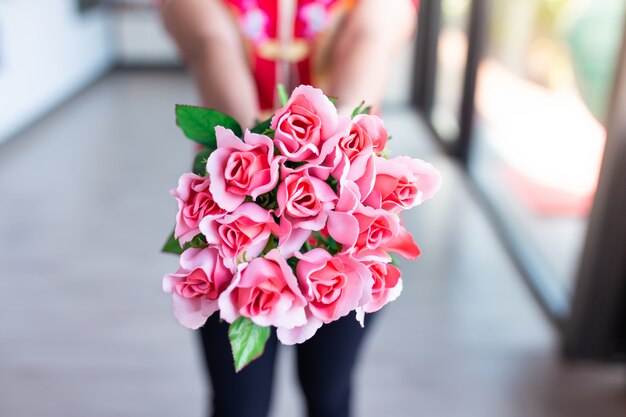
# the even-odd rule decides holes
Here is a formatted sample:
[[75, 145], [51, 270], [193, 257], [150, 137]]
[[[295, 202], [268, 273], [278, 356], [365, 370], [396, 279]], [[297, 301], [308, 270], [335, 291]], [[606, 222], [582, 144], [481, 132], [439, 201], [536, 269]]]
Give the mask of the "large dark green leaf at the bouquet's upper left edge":
[[176, 124], [185, 136], [209, 149], [217, 148], [215, 127], [223, 126], [239, 137], [243, 132], [235, 119], [217, 110], [176, 105]]

